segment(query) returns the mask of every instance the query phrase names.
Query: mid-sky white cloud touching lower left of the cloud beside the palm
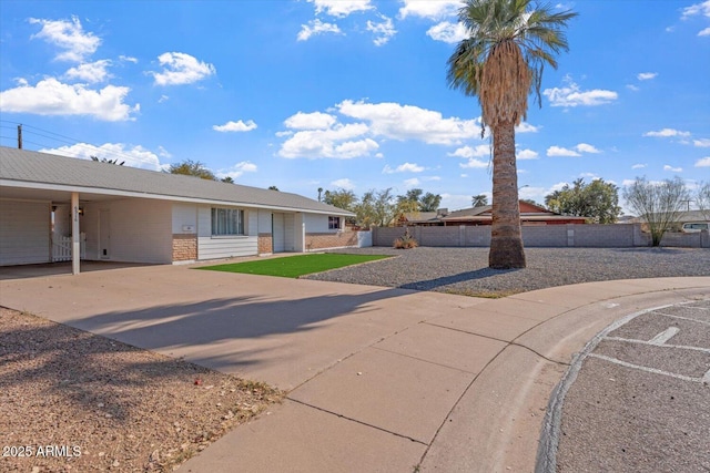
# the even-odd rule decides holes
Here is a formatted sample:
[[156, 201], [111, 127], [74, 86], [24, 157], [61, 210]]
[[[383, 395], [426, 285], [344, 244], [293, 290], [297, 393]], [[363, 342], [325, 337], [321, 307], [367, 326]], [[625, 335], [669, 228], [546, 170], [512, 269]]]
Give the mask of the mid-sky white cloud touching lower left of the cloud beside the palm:
[[368, 155], [379, 145], [371, 138], [353, 141], [367, 133], [364, 123], [337, 124], [328, 130], [304, 130], [294, 133], [278, 151], [278, 155], [287, 158], [335, 157], [352, 158]]

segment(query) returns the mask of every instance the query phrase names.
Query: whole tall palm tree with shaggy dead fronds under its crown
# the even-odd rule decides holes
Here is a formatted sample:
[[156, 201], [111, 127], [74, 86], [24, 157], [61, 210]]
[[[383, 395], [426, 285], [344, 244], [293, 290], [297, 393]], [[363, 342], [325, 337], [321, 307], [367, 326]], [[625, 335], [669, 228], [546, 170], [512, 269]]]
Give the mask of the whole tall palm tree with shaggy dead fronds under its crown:
[[530, 8], [531, 0], [466, 0], [458, 12], [469, 37], [448, 59], [447, 80], [481, 106], [481, 132], [493, 134], [493, 227], [488, 266], [524, 268], [515, 126], [527, 116], [528, 94], [541, 106], [545, 64], [567, 50], [564, 28], [577, 13]]

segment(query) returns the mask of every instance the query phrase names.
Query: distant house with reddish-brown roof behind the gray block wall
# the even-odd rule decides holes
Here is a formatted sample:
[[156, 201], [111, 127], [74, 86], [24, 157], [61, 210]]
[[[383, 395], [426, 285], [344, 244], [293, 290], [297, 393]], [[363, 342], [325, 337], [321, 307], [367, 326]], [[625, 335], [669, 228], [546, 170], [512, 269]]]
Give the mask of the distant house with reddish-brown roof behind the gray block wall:
[[[587, 223], [585, 217], [557, 214], [526, 200], [519, 200], [519, 205], [521, 225], [565, 225]], [[463, 208], [450, 213], [446, 208], [439, 208], [437, 212], [405, 214], [404, 218], [399, 222], [400, 225], [444, 227], [460, 225], [490, 225], [491, 223], [493, 205]]]

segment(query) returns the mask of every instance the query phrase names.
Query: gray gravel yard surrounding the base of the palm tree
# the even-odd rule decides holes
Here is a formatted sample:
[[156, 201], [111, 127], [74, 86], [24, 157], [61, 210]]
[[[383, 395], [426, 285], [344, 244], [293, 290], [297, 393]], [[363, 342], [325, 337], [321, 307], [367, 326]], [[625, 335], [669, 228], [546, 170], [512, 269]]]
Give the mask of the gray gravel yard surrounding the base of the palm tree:
[[554, 286], [613, 279], [710, 276], [710, 250], [686, 248], [526, 248], [527, 268], [488, 268], [488, 248], [338, 250], [393, 255], [305, 276], [339, 282], [498, 297]]

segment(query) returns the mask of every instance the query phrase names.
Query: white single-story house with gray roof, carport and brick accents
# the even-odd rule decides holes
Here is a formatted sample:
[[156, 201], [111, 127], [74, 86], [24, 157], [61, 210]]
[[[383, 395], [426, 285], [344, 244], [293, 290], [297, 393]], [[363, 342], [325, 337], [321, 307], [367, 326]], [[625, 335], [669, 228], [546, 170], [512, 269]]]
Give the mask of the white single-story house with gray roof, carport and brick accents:
[[175, 264], [357, 245], [297, 194], [0, 147], [0, 266]]

